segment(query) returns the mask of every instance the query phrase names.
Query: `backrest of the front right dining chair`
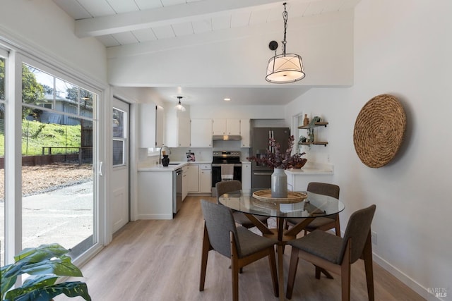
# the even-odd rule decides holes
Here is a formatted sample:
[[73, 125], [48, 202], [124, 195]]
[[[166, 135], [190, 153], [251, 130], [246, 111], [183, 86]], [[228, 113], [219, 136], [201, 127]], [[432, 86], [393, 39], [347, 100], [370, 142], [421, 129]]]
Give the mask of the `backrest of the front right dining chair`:
[[347, 228], [345, 229], [343, 245], [340, 250], [340, 262], [342, 262], [344, 257], [349, 238], [352, 239], [352, 254], [350, 263], [352, 264], [353, 262], [356, 262], [359, 257], [361, 257], [364, 245], [366, 244], [367, 235], [369, 235], [372, 219], [374, 219], [375, 209], [376, 205], [373, 204], [367, 208], [355, 211], [352, 216], [350, 216]]

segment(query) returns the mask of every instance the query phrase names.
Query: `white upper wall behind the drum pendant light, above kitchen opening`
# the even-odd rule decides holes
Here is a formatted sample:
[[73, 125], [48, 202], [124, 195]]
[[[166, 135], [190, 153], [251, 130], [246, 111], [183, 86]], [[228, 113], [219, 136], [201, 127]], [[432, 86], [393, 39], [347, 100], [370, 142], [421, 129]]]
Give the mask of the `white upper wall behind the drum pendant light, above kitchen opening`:
[[[352, 84], [352, 20], [352, 11], [290, 17], [287, 53], [301, 54], [309, 75], [295, 85]], [[216, 32], [206, 32], [201, 37], [208, 43], [189, 36], [162, 40], [158, 48], [155, 42], [111, 47], [109, 82], [145, 87], [271, 86], [263, 80], [263, 64], [274, 55], [268, 49], [270, 41], [278, 41], [281, 53], [282, 30], [279, 20], [228, 30], [230, 39], [225, 41], [218, 41]]]

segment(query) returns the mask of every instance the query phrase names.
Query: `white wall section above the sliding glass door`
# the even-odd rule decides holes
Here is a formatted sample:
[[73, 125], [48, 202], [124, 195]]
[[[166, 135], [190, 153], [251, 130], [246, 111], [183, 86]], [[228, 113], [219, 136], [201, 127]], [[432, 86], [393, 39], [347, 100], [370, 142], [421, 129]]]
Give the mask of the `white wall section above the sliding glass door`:
[[78, 39], [74, 21], [52, 1], [1, 0], [0, 35], [12, 44], [47, 56], [95, 79], [107, 82], [106, 50], [95, 38]]

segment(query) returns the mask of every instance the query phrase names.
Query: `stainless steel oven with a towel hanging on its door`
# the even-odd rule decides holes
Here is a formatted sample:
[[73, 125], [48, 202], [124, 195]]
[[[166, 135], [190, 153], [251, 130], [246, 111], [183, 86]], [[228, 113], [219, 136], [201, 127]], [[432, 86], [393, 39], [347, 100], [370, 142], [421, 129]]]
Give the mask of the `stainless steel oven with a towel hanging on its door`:
[[242, 161], [239, 151], [215, 151], [212, 160], [212, 196], [217, 196], [215, 184], [222, 180], [242, 181]]

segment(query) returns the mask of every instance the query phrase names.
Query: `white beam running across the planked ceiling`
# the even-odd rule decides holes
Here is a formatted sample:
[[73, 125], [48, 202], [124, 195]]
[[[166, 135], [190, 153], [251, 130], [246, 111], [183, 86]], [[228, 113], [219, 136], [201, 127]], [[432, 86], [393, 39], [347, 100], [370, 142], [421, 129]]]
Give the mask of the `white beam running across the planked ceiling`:
[[[145, 11], [133, 11], [112, 16], [76, 20], [77, 37], [97, 37], [118, 32], [205, 20], [234, 11], [268, 9], [280, 6], [279, 0], [206, 0], [165, 6]], [[257, 8], [258, 7], [258, 8]]]

